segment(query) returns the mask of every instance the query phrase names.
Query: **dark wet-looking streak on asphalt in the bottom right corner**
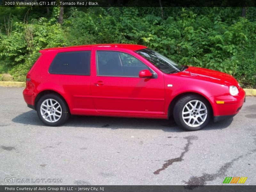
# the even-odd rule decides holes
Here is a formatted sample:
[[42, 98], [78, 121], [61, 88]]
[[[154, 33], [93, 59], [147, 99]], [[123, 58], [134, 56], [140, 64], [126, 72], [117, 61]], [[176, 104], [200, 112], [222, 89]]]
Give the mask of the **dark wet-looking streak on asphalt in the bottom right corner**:
[[194, 188], [206, 185], [207, 181], [213, 181], [213, 180], [217, 179], [217, 177], [225, 175], [225, 172], [227, 172], [228, 168], [230, 168], [234, 164], [235, 161], [237, 161], [238, 159], [240, 159], [244, 156], [251, 155], [254, 152], [256, 152], [256, 149], [254, 149], [251, 152], [246, 153], [244, 155], [240, 155], [240, 156], [236, 157], [235, 159], [232, 159], [230, 162], [222, 165], [216, 173], [212, 173], [212, 174], [203, 173], [203, 175], [200, 177], [193, 176], [193, 177], [190, 177], [188, 181], [183, 180], [183, 182], [188, 185], [188, 186], [186, 186], [187, 189], [194, 189]]

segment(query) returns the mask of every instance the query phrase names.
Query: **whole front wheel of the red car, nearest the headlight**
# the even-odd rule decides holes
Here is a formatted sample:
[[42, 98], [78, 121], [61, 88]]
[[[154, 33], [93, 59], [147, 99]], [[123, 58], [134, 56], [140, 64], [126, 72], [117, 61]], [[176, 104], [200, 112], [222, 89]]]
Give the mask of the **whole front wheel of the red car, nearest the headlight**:
[[175, 122], [186, 131], [202, 129], [209, 123], [211, 115], [208, 101], [192, 94], [180, 98], [173, 109]]

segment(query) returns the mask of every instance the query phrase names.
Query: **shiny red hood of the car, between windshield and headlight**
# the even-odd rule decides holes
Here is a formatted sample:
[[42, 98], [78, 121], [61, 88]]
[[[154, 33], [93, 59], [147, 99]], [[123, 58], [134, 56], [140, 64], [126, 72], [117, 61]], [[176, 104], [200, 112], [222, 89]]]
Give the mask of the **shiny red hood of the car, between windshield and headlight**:
[[238, 84], [238, 82], [233, 76], [228, 75], [226, 73], [222, 73], [220, 71], [215, 71], [206, 68], [188, 67], [186, 70], [181, 71], [177, 74], [183, 77], [191, 77], [224, 85]]

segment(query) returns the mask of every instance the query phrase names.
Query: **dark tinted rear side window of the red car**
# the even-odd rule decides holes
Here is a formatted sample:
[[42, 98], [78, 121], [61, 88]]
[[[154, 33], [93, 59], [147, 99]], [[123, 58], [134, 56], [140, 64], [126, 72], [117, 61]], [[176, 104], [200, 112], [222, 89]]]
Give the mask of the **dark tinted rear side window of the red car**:
[[58, 53], [49, 68], [51, 74], [90, 75], [91, 51]]

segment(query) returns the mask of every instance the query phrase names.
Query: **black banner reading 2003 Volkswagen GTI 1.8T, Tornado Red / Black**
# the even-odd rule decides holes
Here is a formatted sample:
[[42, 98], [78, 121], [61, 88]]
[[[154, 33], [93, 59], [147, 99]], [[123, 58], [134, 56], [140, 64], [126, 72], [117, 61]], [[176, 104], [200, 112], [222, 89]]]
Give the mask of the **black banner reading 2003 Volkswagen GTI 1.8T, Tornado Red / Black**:
[[0, 0], [4, 7], [255, 7], [255, 0]]

